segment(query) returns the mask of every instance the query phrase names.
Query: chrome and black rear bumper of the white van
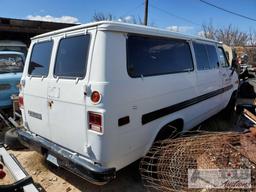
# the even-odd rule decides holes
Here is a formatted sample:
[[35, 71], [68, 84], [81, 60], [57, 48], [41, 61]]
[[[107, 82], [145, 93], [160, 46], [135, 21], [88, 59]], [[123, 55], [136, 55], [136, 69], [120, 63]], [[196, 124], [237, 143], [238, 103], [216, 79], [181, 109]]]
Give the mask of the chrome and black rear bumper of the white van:
[[103, 185], [115, 179], [115, 168], [103, 168], [94, 164], [86, 157], [57, 145], [41, 136], [29, 131], [17, 129], [21, 141], [29, 147], [38, 150], [45, 149], [48, 154], [57, 158], [59, 166], [71, 171], [72, 173], [86, 179], [87, 181]]

